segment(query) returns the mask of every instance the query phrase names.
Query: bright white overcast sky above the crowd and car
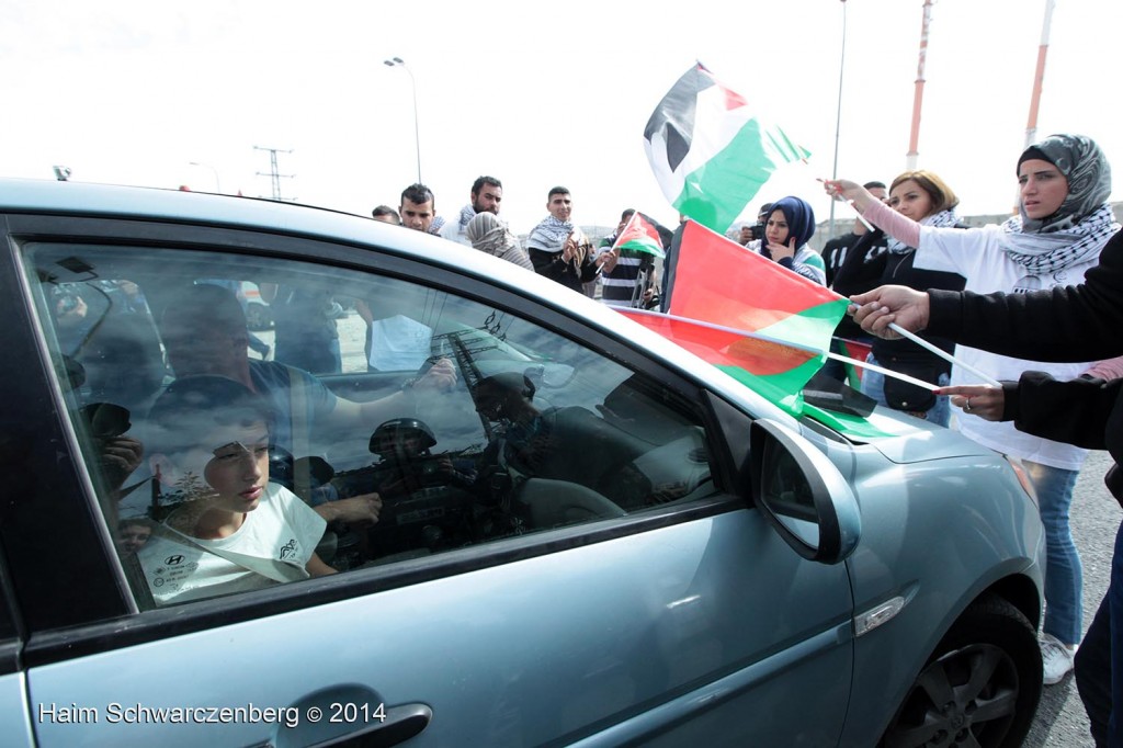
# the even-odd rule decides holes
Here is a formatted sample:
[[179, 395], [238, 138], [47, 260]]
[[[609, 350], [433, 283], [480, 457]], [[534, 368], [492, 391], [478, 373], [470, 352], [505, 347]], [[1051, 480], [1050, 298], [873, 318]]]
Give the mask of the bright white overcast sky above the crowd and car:
[[[888, 182], [905, 167], [922, 7], [844, 4], [840, 176]], [[1013, 206], [1044, 7], [933, 6], [919, 165], [962, 215]], [[292, 150], [280, 155], [295, 175], [285, 197], [396, 207], [417, 179], [410, 76], [383, 65], [399, 56], [438, 213], [455, 215], [486, 173], [503, 181], [515, 232], [546, 215], [555, 184], [578, 224], [634, 207], [673, 225], [642, 131], [700, 60], [813, 153], [754, 206], [795, 193], [824, 219], [814, 177], [832, 171], [842, 19], [838, 0], [0, 0], [0, 176], [53, 179], [63, 164], [75, 181], [270, 195], [256, 175], [268, 154], [254, 149], [267, 146]], [[1119, 0], [1057, 1], [1038, 120], [1041, 137], [1093, 137], [1119, 170], [1121, 29]]]

